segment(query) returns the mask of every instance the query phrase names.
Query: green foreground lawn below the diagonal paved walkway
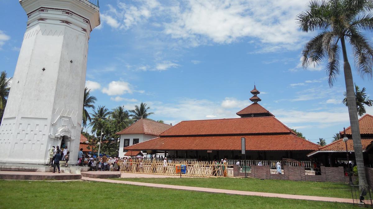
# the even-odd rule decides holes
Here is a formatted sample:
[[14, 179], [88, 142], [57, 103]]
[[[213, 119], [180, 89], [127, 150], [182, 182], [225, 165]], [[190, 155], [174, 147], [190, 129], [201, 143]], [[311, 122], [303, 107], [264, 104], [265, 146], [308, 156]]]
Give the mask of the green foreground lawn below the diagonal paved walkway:
[[352, 208], [347, 203], [191, 192], [89, 181], [0, 180], [0, 208]]

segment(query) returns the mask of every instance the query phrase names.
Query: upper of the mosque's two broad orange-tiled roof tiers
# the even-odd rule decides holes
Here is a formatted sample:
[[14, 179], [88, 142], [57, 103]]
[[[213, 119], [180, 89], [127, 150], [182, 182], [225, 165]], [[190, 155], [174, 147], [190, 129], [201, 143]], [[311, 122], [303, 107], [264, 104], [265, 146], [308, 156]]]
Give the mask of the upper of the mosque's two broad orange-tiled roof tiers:
[[272, 116], [253, 118], [229, 118], [182, 121], [160, 136], [232, 135], [291, 133], [278, 119]]

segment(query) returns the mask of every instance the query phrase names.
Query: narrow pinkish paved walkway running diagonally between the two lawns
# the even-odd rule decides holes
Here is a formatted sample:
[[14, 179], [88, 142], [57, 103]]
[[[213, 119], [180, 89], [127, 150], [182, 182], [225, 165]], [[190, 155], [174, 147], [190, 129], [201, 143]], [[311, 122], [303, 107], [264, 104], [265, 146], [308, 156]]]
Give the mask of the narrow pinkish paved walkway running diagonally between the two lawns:
[[352, 199], [344, 199], [344, 198], [336, 198], [336, 197], [318, 197], [318, 196], [305, 196], [305, 195], [294, 195], [294, 194], [247, 192], [247, 191], [228, 190], [228, 189], [213, 189], [213, 188], [204, 188], [204, 187], [177, 186], [177, 185], [169, 185], [169, 184], [142, 183], [142, 182], [135, 182], [135, 181], [92, 179], [92, 178], [87, 178], [87, 177], [82, 177], [82, 179], [88, 180], [88, 181], [100, 181], [100, 182], [117, 183], [117, 184], [131, 184], [131, 185], [137, 185], [137, 186], [180, 189], [180, 190], [197, 191], [197, 192], [226, 193], [226, 194], [239, 194], [239, 195], [248, 195], [248, 196], [261, 196], [261, 197], [279, 197], [279, 198], [298, 199], [298, 200], [316, 200], [316, 201], [326, 201], [326, 202], [353, 203]]

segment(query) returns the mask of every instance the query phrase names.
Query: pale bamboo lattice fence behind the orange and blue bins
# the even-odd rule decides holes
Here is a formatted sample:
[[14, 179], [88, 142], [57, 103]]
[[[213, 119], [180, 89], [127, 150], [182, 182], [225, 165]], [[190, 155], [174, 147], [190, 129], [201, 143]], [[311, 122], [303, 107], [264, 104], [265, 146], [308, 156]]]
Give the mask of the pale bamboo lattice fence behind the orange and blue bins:
[[176, 166], [185, 165], [185, 174], [182, 176], [194, 177], [227, 177], [228, 165], [226, 163], [214, 163], [213, 161], [195, 161], [188, 162], [182, 160], [167, 161], [164, 164], [160, 160], [151, 159], [137, 159], [120, 160], [118, 162], [121, 172], [127, 173], [144, 173], [144, 174], [160, 174], [180, 176], [176, 173]]

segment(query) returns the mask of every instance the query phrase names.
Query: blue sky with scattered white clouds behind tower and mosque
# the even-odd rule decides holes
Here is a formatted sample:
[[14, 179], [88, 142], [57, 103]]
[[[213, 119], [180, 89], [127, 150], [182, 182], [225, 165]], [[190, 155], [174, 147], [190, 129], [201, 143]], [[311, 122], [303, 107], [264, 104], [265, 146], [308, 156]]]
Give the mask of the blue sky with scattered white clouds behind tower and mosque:
[[[27, 17], [16, 0], [0, 0], [0, 71], [12, 76]], [[150, 118], [181, 120], [238, 117], [260, 104], [313, 142], [331, 140], [349, 126], [341, 100], [343, 71], [332, 88], [325, 64], [303, 70], [300, 54], [315, 33], [303, 33], [295, 16], [304, 0], [119, 1], [101, 0], [101, 25], [89, 43], [86, 86], [97, 105], [133, 109]], [[366, 34], [372, 38], [371, 33]], [[373, 97], [370, 78], [354, 69], [354, 82]], [[342, 67], [342, 65], [341, 65]], [[341, 68], [342, 69], [342, 68]], [[373, 114], [368, 107], [367, 113]]]

